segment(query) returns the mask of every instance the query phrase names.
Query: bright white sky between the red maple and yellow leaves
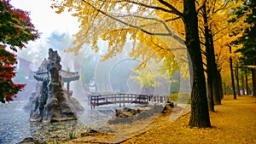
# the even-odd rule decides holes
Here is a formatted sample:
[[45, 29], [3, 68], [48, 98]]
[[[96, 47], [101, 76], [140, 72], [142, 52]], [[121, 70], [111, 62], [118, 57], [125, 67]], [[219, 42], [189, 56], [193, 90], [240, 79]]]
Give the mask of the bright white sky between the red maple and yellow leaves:
[[50, 8], [50, 0], [11, 0], [16, 9], [30, 12], [32, 24], [42, 33], [41, 37], [48, 37], [51, 32], [68, 32], [75, 34], [79, 31], [78, 20], [71, 13], [56, 14]]

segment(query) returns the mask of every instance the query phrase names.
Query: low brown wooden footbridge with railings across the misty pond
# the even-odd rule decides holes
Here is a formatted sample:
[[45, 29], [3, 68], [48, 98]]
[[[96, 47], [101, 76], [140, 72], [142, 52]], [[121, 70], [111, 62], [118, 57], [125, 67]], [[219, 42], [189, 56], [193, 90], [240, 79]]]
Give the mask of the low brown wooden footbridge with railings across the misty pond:
[[121, 104], [125, 107], [125, 103], [135, 103], [146, 105], [149, 102], [165, 103], [168, 101], [168, 95], [141, 95], [141, 94], [105, 94], [105, 95], [89, 95], [90, 107], [98, 107], [109, 104]]

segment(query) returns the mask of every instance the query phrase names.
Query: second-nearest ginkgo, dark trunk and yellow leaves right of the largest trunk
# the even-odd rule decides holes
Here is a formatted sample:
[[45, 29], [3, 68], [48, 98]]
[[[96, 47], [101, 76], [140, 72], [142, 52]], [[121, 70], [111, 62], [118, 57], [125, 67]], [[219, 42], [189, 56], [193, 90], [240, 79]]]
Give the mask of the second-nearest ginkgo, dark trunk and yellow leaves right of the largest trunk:
[[[214, 111], [214, 104], [221, 104], [223, 97], [220, 68], [218, 68], [222, 63], [217, 63], [217, 60], [220, 60], [218, 57], [225, 55], [229, 58], [228, 55], [222, 53], [222, 50], [228, 48], [228, 45], [236, 38], [241, 37], [241, 33], [248, 26], [242, 22], [246, 18], [245, 14], [241, 15], [236, 22], [229, 23], [229, 20], [236, 16], [234, 14], [236, 7], [241, 6], [242, 3], [244, 2], [207, 0], [199, 11], [202, 54], [205, 58], [207, 72], [208, 106], [211, 111]], [[236, 36], [232, 36], [233, 32], [237, 33]], [[223, 45], [219, 46], [219, 42]]]

